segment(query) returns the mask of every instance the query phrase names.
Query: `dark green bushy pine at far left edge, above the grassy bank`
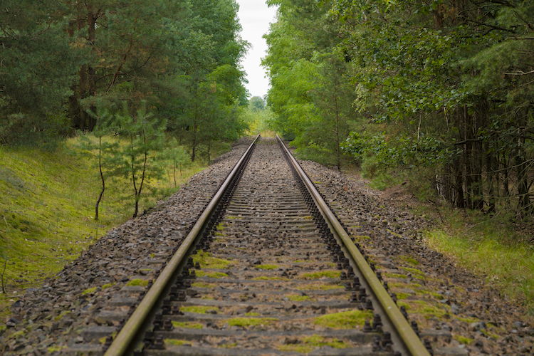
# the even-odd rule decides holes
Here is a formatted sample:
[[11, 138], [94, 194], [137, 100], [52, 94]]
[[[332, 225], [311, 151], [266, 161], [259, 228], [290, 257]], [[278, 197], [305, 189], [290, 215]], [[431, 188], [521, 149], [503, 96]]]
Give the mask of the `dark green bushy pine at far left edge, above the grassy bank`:
[[[29, 11], [31, 9], [31, 11]], [[61, 1], [3, 1], [0, 9], [0, 142], [36, 142], [66, 130], [61, 112], [81, 54], [64, 33]]]

